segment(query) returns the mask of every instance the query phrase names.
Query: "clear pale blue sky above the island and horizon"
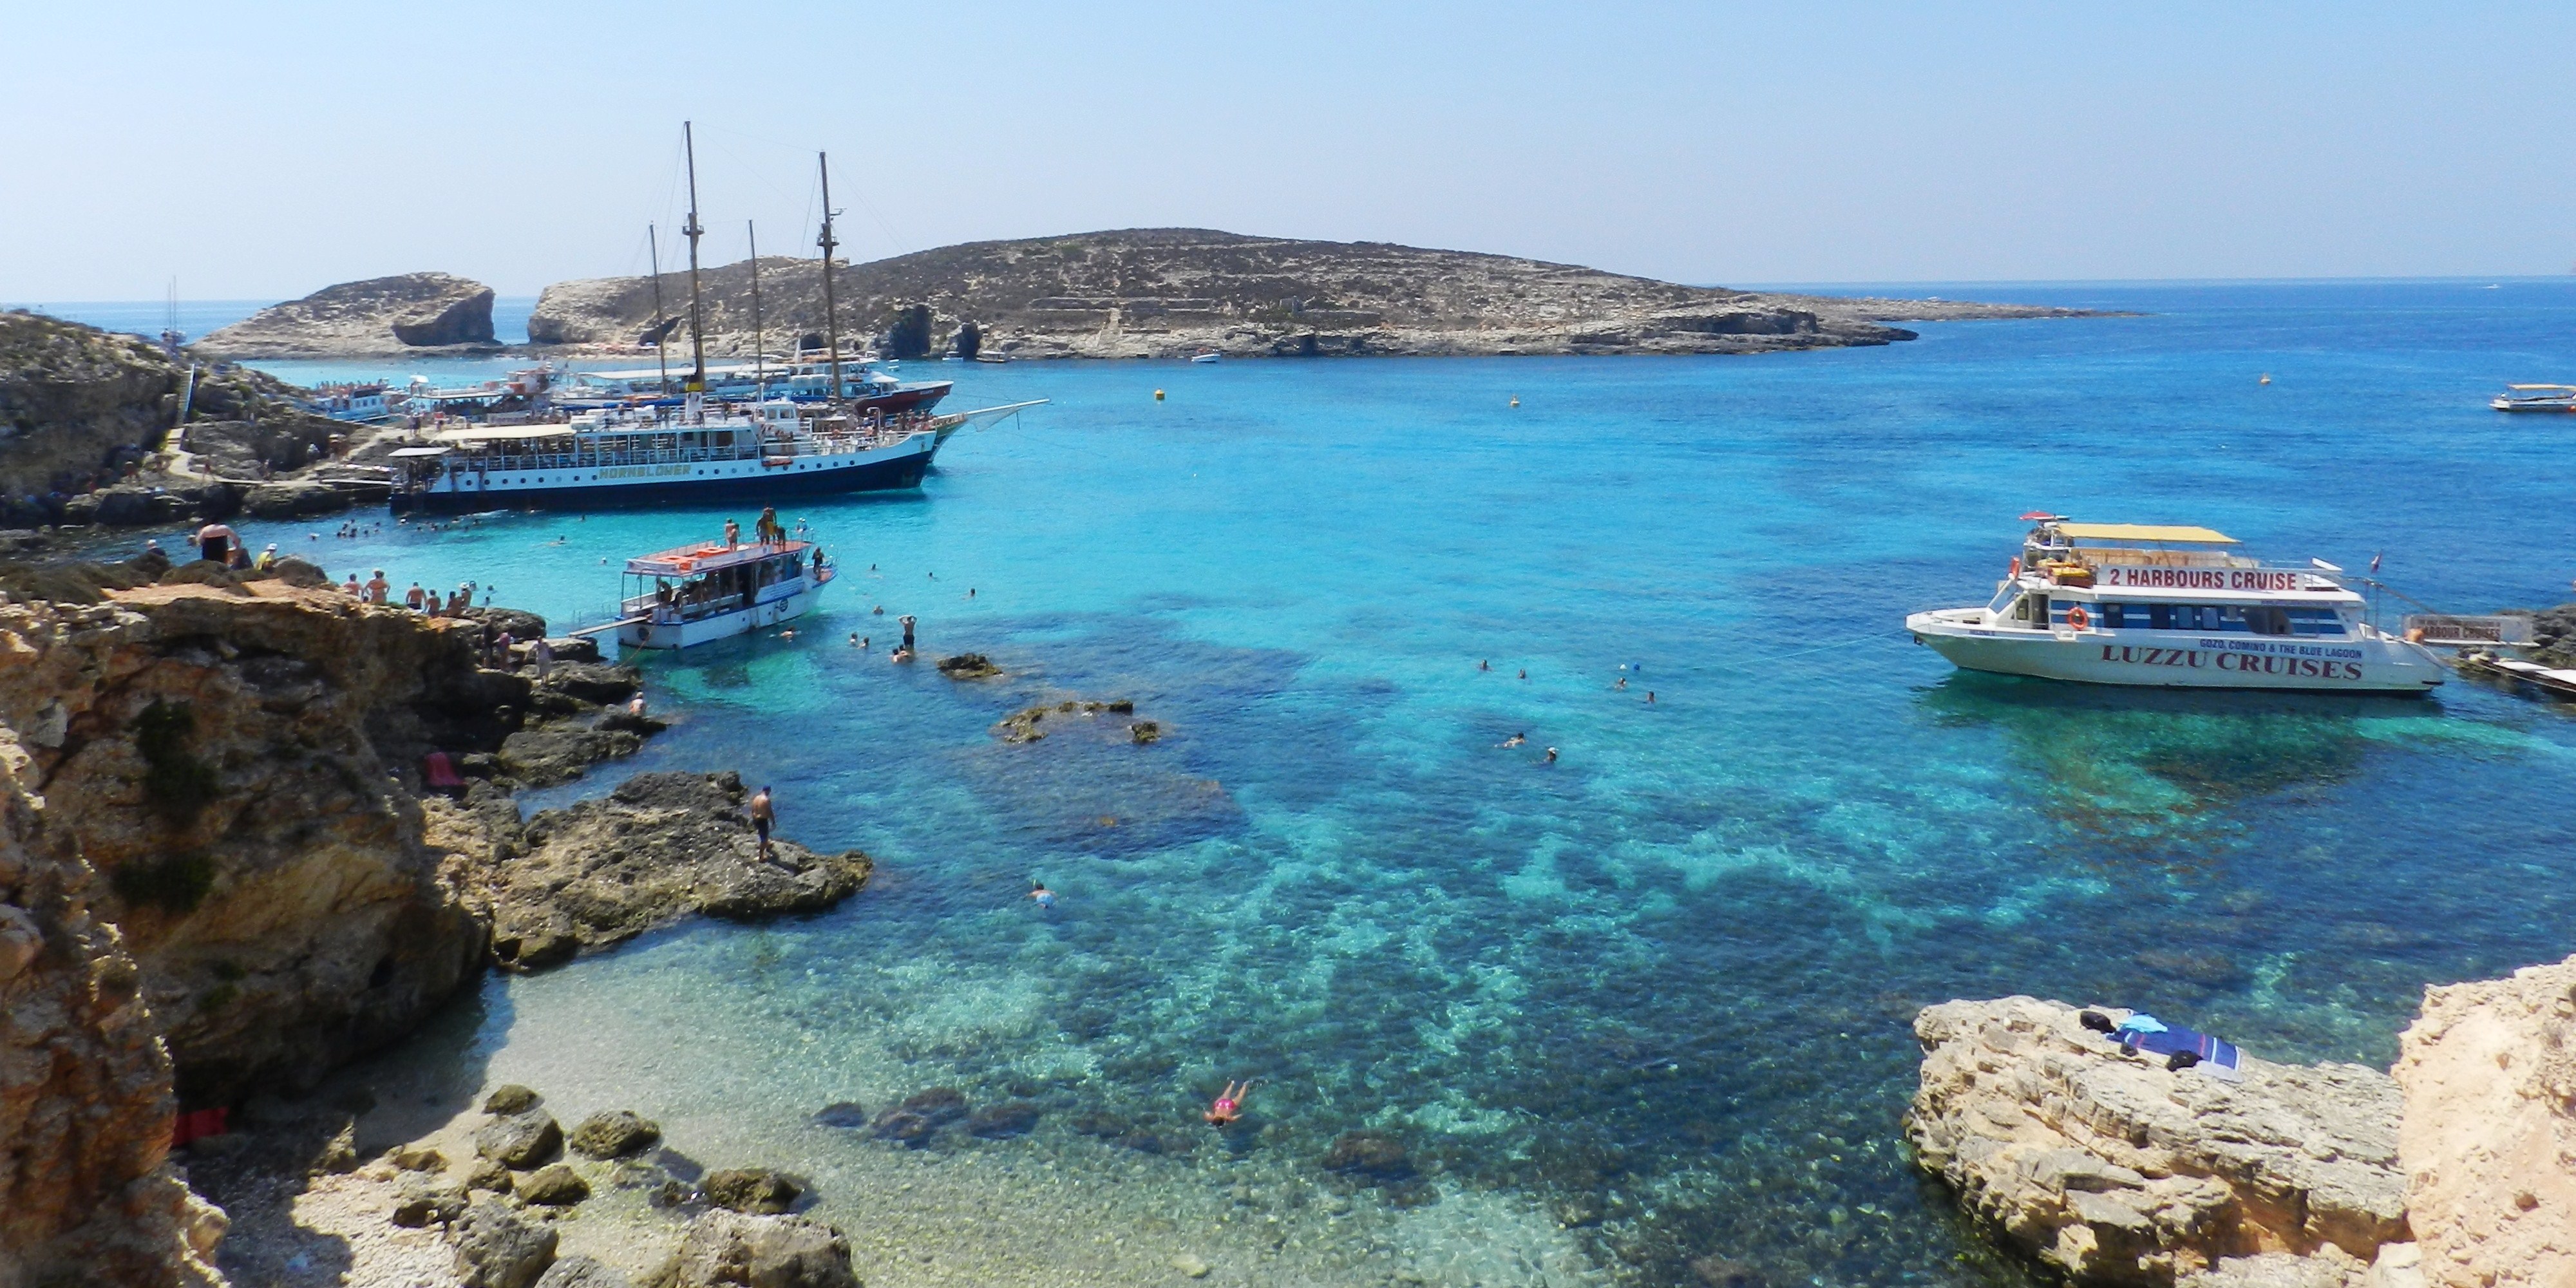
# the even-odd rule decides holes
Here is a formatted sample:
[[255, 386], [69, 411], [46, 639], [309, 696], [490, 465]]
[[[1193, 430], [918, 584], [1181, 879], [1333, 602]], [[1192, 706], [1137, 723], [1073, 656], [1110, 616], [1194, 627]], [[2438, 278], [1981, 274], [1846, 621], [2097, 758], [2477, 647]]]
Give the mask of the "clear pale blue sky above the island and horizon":
[[[1198, 224], [1659, 278], [2576, 263], [2576, 5], [39, 5], [0, 299]], [[665, 247], [672, 242], [665, 240]], [[672, 252], [665, 252], [672, 263]]]

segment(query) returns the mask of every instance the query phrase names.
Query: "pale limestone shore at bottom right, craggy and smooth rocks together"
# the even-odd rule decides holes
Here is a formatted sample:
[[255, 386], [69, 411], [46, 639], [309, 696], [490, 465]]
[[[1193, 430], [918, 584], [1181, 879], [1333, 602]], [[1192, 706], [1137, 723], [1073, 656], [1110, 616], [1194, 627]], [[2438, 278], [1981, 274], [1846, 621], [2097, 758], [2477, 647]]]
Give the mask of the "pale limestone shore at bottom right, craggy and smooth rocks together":
[[2393, 1072], [2249, 1056], [2241, 1082], [2128, 1054], [2066, 1002], [1945, 1002], [1914, 1020], [1906, 1136], [2079, 1285], [2571, 1283], [2571, 997], [2576, 958], [2432, 987]]

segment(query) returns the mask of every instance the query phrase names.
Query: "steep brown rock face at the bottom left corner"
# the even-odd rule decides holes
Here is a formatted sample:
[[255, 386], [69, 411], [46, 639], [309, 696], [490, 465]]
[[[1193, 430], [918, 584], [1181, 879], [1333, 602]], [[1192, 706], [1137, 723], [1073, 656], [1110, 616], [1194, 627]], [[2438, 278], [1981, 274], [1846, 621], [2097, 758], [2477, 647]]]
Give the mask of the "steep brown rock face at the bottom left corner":
[[0, 1285], [222, 1283], [170, 1154], [170, 1056], [98, 873], [0, 729]]

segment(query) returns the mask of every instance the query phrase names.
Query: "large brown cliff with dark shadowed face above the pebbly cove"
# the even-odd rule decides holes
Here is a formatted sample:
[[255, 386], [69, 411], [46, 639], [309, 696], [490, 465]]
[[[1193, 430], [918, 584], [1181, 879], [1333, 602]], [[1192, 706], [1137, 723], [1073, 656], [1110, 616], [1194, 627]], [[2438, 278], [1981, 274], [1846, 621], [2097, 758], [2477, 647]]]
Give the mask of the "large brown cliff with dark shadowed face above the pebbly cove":
[[281, 582], [0, 605], [0, 724], [103, 873], [191, 1103], [309, 1084], [482, 961], [412, 791], [422, 752], [526, 708], [479, 631]]

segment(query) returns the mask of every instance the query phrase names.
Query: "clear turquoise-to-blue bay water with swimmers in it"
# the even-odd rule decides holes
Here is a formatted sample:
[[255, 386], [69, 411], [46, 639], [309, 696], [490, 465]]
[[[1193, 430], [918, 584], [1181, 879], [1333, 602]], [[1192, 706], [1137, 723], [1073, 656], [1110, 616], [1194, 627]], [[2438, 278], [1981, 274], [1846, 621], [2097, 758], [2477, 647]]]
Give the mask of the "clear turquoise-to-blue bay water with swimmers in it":
[[[2030, 507], [2385, 551], [2455, 611], [2566, 600], [2576, 422], [2483, 399], [2576, 374], [2576, 286], [2478, 286], [2014, 289], [2154, 317], [1772, 358], [922, 363], [951, 407], [1056, 402], [951, 440], [920, 495], [786, 510], [850, 577], [793, 641], [644, 659], [680, 724], [631, 765], [775, 783], [783, 829], [866, 848], [876, 884], [495, 979], [410, 1059], [634, 1105], [711, 1164], [793, 1159], [902, 1239], [974, 1242], [933, 1218], [969, 1193], [1030, 1213], [935, 1265], [868, 1244], [871, 1283], [1041, 1283], [1175, 1221], [1218, 1280], [1680, 1283], [1723, 1255], [2020, 1283], [1899, 1149], [1917, 1007], [2099, 999], [2385, 1064], [2427, 981], [2576, 948], [2576, 734], [2470, 683], [1958, 675], [1901, 616], [1986, 598]], [[603, 559], [721, 518], [247, 536], [562, 626], [605, 616]], [[899, 613], [1010, 675], [886, 665]], [[1167, 737], [987, 734], [1056, 698]], [[1242, 1074], [1260, 1131], [1203, 1139]], [[933, 1084], [1048, 1118], [933, 1154], [804, 1126]], [[1074, 1136], [1092, 1110], [1198, 1146]], [[1432, 1188], [1324, 1182], [1358, 1126]], [[1229, 1177], [1257, 1177], [1252, 1234], [1193, 1224]]]

